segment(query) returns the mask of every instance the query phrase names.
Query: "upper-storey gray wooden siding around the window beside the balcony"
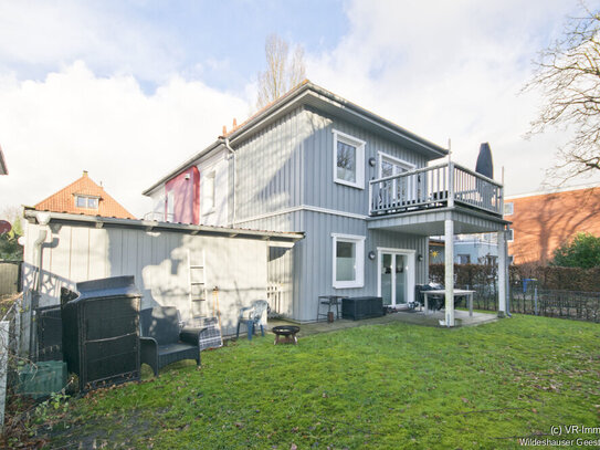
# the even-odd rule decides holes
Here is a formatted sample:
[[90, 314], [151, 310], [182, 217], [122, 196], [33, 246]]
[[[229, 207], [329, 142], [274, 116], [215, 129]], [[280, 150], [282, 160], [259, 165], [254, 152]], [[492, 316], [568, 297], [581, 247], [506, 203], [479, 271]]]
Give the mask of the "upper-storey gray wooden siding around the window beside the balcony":
[[[427, 165], [425, 158], [415, 151], [407, 150], [398, 144], [382, 139], [380, 136], [356, 125], [350, 125], [336, 117], [328, 117], [310, 109], [307, 109], [304, 115], [310, 129], [304, 145], [305, 205], [368, 214], [368, 180], [379, 176], [379, 151], [406, 160], [418, 168]], [[366, 142], [365, 189], [344, 186], [334, 181], [334, 129]], [[369, 166], [369, 158], [371, 157], [377, 160], [375, 167]]]

